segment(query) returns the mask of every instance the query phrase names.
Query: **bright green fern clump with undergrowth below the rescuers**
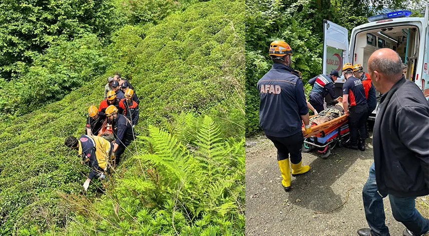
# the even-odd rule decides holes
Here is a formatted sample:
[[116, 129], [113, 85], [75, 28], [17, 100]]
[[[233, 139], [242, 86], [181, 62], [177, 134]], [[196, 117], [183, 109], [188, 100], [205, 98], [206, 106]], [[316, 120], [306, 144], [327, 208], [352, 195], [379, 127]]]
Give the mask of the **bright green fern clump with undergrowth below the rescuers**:
[[209, 116], [164, 126], [172, 133], [149, 126], [99, 201], [65, 196], [81, 212], [67, 235], [244, 235], [244, 139], [224, 138]]

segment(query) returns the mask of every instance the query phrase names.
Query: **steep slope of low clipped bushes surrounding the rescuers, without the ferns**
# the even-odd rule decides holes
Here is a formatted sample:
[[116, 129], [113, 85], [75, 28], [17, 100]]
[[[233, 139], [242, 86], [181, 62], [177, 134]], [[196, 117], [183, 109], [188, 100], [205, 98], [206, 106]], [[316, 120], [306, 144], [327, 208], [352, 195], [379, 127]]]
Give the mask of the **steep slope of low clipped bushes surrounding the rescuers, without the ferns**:
[[[114, 62], [106, 74], [59, 102], [0, 123], [0, 234], [56, 231], [78, 214], [60, 195], [80, 194], [88, 169], [75, 151], [64, 147], [64, 139], [83, 133], [88, 106], [98, 106], [106, 78], [115, 71], [126, 75], [141, 97], [140, 134], [149, 134], [149, 124], [168, 128], [174, 114], [187, 111], [213, 115], [222, 138], [240, 140], [242, 19], [243, 1], [214, 0], [195, 4], [156, 26], [126, 26], [112, 39], [109, 56]], [[145, 145], [139, 143], [137, 149]], [[125, 162], [122, 167], [127, 163], [134, 164]], [[90, 190], [88, 204], [97, 194], [95, 186]]]

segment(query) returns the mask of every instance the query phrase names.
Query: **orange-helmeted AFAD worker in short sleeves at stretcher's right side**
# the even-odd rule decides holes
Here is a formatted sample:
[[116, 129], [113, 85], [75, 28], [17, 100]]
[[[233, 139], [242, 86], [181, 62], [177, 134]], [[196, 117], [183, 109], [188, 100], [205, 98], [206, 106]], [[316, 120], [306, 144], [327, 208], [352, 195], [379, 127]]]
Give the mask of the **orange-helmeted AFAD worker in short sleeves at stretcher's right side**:
[[[366, 114], [368, 105], [366, 103], [365, 90], [362, 81], [353, 77], [353, 66], [346, 63], [342, 67], [342, 74], [346, 81], [342, 86], [342, 105], [344, 114], [349, 113], [348, 125], [350, 130], [351, 142], [345, 144], [346, 147], [354, 150], [365, 151], [366, 139]], [[360, 140], [357, 140], [357, 131], [360, 132]]]

